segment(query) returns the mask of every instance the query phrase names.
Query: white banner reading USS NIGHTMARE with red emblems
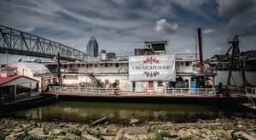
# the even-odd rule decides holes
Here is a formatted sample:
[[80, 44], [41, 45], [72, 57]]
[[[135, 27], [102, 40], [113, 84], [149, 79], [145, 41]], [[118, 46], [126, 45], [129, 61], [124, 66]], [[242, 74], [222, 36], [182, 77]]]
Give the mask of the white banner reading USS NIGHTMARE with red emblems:
[[175, 81], [175, 55], [129, 57], [130, 81]]

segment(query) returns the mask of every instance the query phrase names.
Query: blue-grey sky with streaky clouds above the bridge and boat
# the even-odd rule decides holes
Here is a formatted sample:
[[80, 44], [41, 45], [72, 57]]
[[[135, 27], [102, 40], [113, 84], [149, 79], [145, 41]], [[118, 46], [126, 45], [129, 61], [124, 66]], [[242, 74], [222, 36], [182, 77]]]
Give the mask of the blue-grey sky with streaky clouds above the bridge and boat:
[[82, 51], [96, 36], [100, 49], [117, 55], [159, 40], [169, 42], [167, 53], [195, 53], [199, 27], [204, 59], [225, 53], [227, 37], [235, 34], [241, 51], [256, 48], [254, 0], [1, 0], [0, 5], [0, 25]]

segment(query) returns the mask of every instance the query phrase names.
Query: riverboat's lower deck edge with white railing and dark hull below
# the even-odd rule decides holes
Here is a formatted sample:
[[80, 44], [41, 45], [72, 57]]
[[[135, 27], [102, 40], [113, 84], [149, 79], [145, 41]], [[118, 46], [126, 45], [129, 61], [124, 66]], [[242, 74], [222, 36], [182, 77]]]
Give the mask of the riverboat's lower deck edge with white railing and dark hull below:
[[237, 101], [237, 98], [216, 94], [214, 88], [161, 88], [125, 91], [117, 88], [100, 87], [49, 87], [49, 92], [43, 94], [64, 100], [99, 102], [218, 104], [219, 102], [235, 103]]

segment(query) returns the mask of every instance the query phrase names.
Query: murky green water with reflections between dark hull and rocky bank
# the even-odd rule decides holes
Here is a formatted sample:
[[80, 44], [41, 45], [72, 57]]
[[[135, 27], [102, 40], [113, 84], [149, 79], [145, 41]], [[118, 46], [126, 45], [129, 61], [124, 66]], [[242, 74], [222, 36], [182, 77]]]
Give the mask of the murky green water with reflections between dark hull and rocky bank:
[[94, 102], [59, 102], [34, 109], [9, 113], [16, 117], [38, 120], [88, 121], [109, 120], [197, 120], [221, 116], [242, 116], [246, 112], [196, 104], [127, 104]]

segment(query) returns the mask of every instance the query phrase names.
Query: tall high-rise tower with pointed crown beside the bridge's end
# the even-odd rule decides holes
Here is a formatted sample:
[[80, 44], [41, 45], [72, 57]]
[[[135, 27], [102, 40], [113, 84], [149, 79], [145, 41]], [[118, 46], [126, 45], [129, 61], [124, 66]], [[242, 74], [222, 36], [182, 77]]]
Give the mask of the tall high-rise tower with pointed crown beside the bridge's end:
[[90, 54], [90, 56], [98, 57], [99, 47], [95, 36], [90, 36], [90, 40], [86, 46], [86, 52]]

